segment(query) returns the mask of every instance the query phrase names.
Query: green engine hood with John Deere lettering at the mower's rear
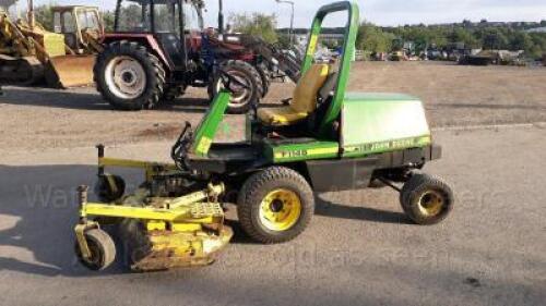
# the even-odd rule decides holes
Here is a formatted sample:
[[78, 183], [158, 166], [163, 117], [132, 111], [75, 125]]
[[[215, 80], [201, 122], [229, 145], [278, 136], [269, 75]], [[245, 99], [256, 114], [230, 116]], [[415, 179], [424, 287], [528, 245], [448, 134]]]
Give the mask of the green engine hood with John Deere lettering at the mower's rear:
[[347, 94], [342, 110], [344, 157], [387, 152], [431, 143], [420, 100], [399, 94]]

